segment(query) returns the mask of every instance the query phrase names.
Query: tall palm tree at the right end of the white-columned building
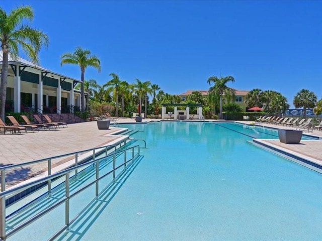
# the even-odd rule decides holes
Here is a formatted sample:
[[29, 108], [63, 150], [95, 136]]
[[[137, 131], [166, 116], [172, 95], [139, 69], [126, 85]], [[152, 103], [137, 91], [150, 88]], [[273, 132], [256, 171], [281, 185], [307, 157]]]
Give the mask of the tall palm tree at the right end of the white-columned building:
[[91, 55], [91, 51], [76, 47], [75, 52], [65, 53], [61, 56], [60, 65], [76, 64], [81, 68], [81, 107], [85, 111], [85, 94], [84, 94], [84, 74], [87, 67], [92, 66], [101, 72], [101, 62], [95, 55]]

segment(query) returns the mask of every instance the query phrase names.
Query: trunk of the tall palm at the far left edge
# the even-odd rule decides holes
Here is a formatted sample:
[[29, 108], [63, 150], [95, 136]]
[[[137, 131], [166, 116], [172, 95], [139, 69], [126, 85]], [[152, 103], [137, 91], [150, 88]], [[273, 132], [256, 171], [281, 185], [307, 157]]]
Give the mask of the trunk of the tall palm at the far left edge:
[[[5, 110], [6, 110], [6, 97], [7, 97], [7, 83], [8, 83], [8, 49], [3, 49], [3, 62], [1, 73], [1, 85], [0, 85], [0, 118], [5, 122]], [[18, 104], [18, 103], [15, 103]]]

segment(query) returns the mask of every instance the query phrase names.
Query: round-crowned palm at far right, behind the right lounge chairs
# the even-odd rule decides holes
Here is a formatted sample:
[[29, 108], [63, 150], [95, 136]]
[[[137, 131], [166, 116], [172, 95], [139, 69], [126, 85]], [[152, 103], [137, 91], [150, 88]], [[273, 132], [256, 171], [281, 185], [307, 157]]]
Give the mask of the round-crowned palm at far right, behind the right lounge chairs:
[[303, 116], [306, 116], [306, 108], [313, 108], [316, 104], [316, 95], [308, 89], [301, 89], [294, 96], [293, 104], [295, 108], [303, 106]]

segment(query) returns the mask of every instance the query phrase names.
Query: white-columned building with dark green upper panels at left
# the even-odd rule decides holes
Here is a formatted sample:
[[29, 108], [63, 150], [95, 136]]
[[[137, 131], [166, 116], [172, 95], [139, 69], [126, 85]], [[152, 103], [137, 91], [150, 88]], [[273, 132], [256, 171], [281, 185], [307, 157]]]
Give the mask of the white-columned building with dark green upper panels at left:
[[[3, 52], [0, 50], [2, 72]], [[6, 112], [73, 112], [81, 107], [81, 93], [74, 91], [76, 80], [9, 55]]]

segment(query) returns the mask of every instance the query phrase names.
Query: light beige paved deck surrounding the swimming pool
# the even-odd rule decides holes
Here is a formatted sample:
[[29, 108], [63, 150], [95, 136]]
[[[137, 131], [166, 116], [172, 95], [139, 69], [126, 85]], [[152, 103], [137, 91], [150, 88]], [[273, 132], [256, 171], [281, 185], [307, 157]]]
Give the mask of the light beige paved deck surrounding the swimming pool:
[[[143, 122], [150, 121], [160, 121], [160, 119], [144, 119]], [[213, 120], [206, 121], [213, 122]], [[133, 118], [120, 118], [118, 123], [135, 123], [135, 121]], [[239, 123], [250, 124], [250, 122]], [[276, 129], [294, 129], [270, 124], [263, 124], [261, 126]], [[114, 126], [111, 126], [110, 130], [98, 130], [96, 122], [86, 122], [70, 124], [68, 128], [54, 129], [51, 131], [28, 132], [28, 134], [22, 135], [0, 135], [0, 165], [26, 163], [33, 160], [113, 144], [126, 138], [122, 134], [117, 135], [122, 130], [124, 129]], [[313, 131], [313, 133], [309, 134], [322, 138], [321, 131]], [[301, 141], [300, 145], [284, 144], [280, 143], [279, 140], [263, 140], [262, 142], [305, 156], [322, 165], [321, 141]], [[61, 159], [59, 164], [63, 162], [64, 159]], [[24, 166], [16, 168], [9, 172], [9, 175], [7, 173], [7, 182], [8, 184], [18, 183], [46, 171], [47, 163], [33, 165], [32, 167]]]

